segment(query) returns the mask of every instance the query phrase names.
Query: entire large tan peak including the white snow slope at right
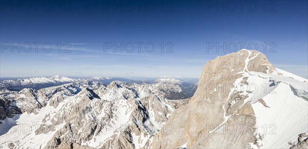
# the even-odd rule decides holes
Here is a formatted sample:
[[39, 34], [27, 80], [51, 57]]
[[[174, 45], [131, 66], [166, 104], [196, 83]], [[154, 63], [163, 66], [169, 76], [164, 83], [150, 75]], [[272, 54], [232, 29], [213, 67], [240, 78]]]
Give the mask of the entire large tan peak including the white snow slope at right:
[[159, 132], [151, 148], [307, 146], [307, 88], [307, 79], [275, 69], [258, 51], [218, 57], [168, 119], [172, 131]]

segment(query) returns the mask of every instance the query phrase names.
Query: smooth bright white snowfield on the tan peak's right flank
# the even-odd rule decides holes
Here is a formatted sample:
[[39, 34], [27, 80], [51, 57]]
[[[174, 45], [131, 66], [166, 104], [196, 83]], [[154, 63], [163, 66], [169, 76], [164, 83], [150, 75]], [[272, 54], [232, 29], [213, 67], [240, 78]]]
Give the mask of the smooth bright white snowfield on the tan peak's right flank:
[[256, 72], [251, 74], [277, 83], [275, 89], [262, 97], [269, 108], [260, 102], [252, 102], [257, 117], [257, 132], [264, 134], [260, 143], [262, 148], [289, 148], [289, 141], [297, 141], [298, 135], [308, 132], [307, 79], [284, 71], [282, 74], [287, 77]]

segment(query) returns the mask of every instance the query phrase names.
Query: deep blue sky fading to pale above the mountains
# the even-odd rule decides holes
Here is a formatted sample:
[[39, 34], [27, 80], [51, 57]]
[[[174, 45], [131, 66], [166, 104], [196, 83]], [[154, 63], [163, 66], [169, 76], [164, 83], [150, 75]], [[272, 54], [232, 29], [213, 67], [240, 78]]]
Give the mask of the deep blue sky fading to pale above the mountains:
[[46, 2], [1, 1], [1, 77], [200, 77], [243, 43], [307, 78], [307, 1]]

